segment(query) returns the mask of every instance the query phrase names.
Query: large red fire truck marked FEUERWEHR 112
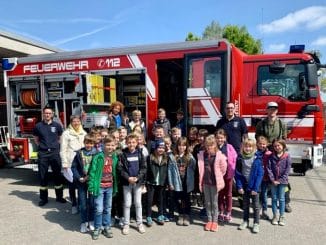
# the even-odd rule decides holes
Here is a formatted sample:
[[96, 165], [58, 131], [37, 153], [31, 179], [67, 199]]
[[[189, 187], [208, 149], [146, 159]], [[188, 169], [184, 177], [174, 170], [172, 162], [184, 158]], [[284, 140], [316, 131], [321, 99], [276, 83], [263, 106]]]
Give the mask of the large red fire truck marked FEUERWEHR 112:
[[322, 164], [320, 66], [300, 45], [287, 54], [247, 55], [224, 39], [4, 59], [10, 151], [24, 162], [35, 159], [32, 129], [47, 104], [64, 127], [83, 112], [90, 128], [104, 125], [108, 105], [118, 100], [128, 113], [141, 110], [151, 132], [160, 107], [170, 119], [182, 109], [188, 128], [213, 130], [226, 102], [234, 101], [252, 137], [267, 102], [276, 101], [300, 172]]

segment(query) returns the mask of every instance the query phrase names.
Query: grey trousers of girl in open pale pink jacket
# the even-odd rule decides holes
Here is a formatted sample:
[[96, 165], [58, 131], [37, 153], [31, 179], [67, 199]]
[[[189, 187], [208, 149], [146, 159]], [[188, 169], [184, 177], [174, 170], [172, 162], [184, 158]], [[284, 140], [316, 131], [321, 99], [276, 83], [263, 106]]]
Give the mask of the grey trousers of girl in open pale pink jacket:
[[205, 208], [208, 222], [217, 222], [218, 216], [218, 192], [216, 186], [204, 185]]

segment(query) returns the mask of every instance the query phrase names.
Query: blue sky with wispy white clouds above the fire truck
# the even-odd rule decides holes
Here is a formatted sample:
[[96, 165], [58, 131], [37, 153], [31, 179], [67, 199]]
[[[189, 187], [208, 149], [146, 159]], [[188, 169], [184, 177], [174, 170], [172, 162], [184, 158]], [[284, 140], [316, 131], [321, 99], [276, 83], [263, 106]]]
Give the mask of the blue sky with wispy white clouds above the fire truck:
[[265, 53], [305, 44], [326, 63], [326, 0], [16, 0], [0, 9], [0, 29], [64, 50], [183, 41], [213, 20], [246, 26]]

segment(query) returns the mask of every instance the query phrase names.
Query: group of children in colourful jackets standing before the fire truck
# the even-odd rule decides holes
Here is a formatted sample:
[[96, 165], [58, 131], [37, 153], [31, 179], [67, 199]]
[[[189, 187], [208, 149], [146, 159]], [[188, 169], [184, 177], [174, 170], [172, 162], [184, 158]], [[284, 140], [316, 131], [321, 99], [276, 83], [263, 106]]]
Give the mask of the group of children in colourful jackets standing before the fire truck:
[[[165, 114], [165, 111], [160, 109], [160, 113]], [[141, 234], [145, 233], [143, 206], [148, 227], [153, 225], [153, 220], [159, 225], [175, 220], [177, 225], [189, 226], [191, 196], [198, 197], [198, 203], [204, 203], [203, 211], [207, 215], [204, 230], [215, 232], [218, 222], [232, 219], [234, 178], [237, 191], [243, 195], [240, 230], [248, 227], [251, 199], [253, 232], [259, 232], [260, 202], [266, 218], [269, 186], [272, 224], [285, 225], [284, 190], [291, 163], [284, 141], [275, 140], [269, 151], [266, 138], [259, 137], [257, 149], [254, 140], [246, 139], [237, 155], [227, 143], [223, 129], [209, 135], [207, 130], [193, 127], [185, 137], [180, 128], [170, 128], [165, 115], [154, 123], [154, 138], [147, 147], [143, 133], [141, 129], [130, 131], [120, 126], [110, 132], [94, 129], [85, 136], [85, 146], [77, 152], [72, 163], [78, 187], [81, 232], [92, 230], [94, 240], [101, 233], [111, 238], [114, 220], [111, 217], [117, 216], [122, 234], [128, 235], [132, 204]], [[155, 219], [154, 204], [157, 206]], [[111, 215], [111, 211], [114, 214]], [[175, 211], [178, 213], [176, 219]]]

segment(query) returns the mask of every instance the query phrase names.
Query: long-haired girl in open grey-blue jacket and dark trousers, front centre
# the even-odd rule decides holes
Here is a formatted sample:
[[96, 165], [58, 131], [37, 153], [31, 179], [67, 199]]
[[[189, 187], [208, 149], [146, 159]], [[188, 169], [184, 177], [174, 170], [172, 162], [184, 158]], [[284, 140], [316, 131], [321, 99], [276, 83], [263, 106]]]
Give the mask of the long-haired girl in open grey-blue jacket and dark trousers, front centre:
[[174, 166], [176, 167], [176, 174], [174, 178], [171, 177], [169, 185], [170, 189], [175, 190], [175, 197], [179, 206], [177, 225], [188, 226], [190, 225], [190, 192], [194, 190], [196, 162], [189, 152], [186, 137], [181, 137], [177, 141], [175, 160], [176, 164]]

